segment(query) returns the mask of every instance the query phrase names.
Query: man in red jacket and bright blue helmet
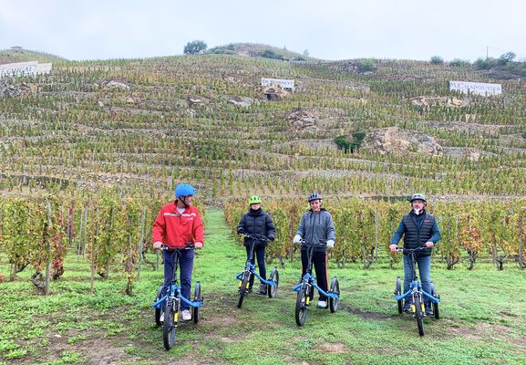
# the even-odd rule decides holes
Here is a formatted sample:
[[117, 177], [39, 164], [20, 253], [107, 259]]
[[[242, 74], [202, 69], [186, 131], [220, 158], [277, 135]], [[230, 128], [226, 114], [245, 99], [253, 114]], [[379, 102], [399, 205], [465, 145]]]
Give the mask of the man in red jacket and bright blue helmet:
[[[153, 228], [153, 248], [168, 245], [173, 248], [185, 248], [191, 242], [195, 248], [202, 248], [204, 244], [204, 228], [201, 215], [196, 207], [191, 206], [195, 189], [191, 184], [180, 183], [175, 188], [175, 201], [160, 208]], [[166, 293], [170, 287], [173, 275], [175, 251], [163, 250], [164, 259], [164, 287]], [[180, 250], [180, 294], [190, 298], [191, 271], [193, 270], [194, 249]], [[190, 306], [181, 301], [182, 320], [190, 320]], [[164, 313], [164, 311], [161, 311]]]

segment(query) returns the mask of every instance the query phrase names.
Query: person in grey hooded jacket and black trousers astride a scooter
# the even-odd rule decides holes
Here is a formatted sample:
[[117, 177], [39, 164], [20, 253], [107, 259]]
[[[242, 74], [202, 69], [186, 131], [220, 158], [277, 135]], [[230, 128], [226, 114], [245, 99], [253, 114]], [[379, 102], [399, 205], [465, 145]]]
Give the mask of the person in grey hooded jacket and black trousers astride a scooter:
[[[313, 264], [315, 266], [316, 281], [318, 287], [325, 292], [328, 291], [329, 277], [327, 273], [327, 248], [335, 245], [336, 231], [333, 217], [329, 212], [322, 208], [322, 196], [319, 193], [311, 193], [308, 197], [311, 209], [304, 213], [296, 235], [294, 235], [294, 244], [301, 243], [304, 239], [312, 244], [325, 244], [321, 247], [315, 247], [313, 254]], [[307, 271], [308, 257], [307, 249], [302, 246], [302, 277]], [[318, 308], [328, 308], [327, 297], [320, 293]]]

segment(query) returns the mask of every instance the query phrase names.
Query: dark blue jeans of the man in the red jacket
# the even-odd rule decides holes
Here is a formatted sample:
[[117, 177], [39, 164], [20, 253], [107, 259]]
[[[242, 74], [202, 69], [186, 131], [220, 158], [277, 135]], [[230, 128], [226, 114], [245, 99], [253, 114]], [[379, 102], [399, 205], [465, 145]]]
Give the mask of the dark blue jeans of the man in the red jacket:
[[[170, 290], [171, 276], [173, 276], [173, 265], [175, 261], [175, 251], [162, 251], [164, 259], [164, 287], [163, 293], [168, 293]], [[180, 273], [180, 294], [187, 299], [190, 297], [191, 289], [191, 271], [193, 270], [193, 256], [194, 250], [180, 250], [179, 273]], [[180, 310], [190, 309], [190, 306], [180, 301]]]

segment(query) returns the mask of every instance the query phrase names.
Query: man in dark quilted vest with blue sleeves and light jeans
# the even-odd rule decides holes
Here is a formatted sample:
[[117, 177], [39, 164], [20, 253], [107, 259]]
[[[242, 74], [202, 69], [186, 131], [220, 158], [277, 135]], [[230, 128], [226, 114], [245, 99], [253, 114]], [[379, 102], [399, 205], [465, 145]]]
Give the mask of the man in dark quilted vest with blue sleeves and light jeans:
[[[428, 201], [426, 196], [421, 193], [416, 193], [411, 196], [412, 210], [404, 215], [400, 224], [398, 224], [397, 231], [391, 239], [389, 249], [392, 253], [397, 252], [398, 242], [402, 235], [404, 235], [405, 248], [418, 248], [420, 246], [427, 246], [424, 250], [417, 251], [416, 260], [418, 264], [418, 272], [422, 282], [422, 289], [431, 293], [431, 250], [434, 245], [437, 245], [440, 240], [440, 231], [435, 217], [426, 212]], [[413, 277], [413, 265], [410, 262], [411, 257], [404, 253], [404, 293], [409, 290], [409, 283]], [[426, 312], [430, 313], [431, 303], [428, 297], [424, 298], [426, 305]], [[410, 311], [411, 297], [407, 297], [404, 303], [404, 310]]]

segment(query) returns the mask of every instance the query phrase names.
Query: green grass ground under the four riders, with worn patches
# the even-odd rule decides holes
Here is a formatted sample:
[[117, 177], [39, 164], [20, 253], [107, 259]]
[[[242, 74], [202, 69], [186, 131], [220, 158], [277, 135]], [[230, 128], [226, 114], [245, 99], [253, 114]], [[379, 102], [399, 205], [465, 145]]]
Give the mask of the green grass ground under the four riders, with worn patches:
[[[150, 309], [161, 270], [143, 266], [134, 296], [123, 294], [125, 280], [117, 272], [106, 282], [97, 280], [89, 295], [88, 263], [77, 264], [75, 257], [66, 261], [65, 277], [52, 283], [50, 297], [34, 294], [30, 272], [0, 284], [0, 364], [526, 363], [524, 272], [511, 266], [448, 271], [434, 263], [442, 318], [426, 318], [426, 336], [419, 338], [414, 320], [397, 315], [392, 298], [401, 266], [364, 271], [331, 265], [329, 274], [340, 280], [340, 308], [335, 314], [309, 308], [304, 328], [298, 328], [292, 291], [297, 261], [280, 268], [276, 298], [249, 295], [236, 308], [235, 274], [244, 249], [234, 245], [222, 219], [219, 210], [207, 212], [205, 247], [195, 262], [193, 281], [201, 281], [205, 299], [202, 320], [181, 324], [169, 352]], [[0, 272], [7, 274], [1, 258]]]

